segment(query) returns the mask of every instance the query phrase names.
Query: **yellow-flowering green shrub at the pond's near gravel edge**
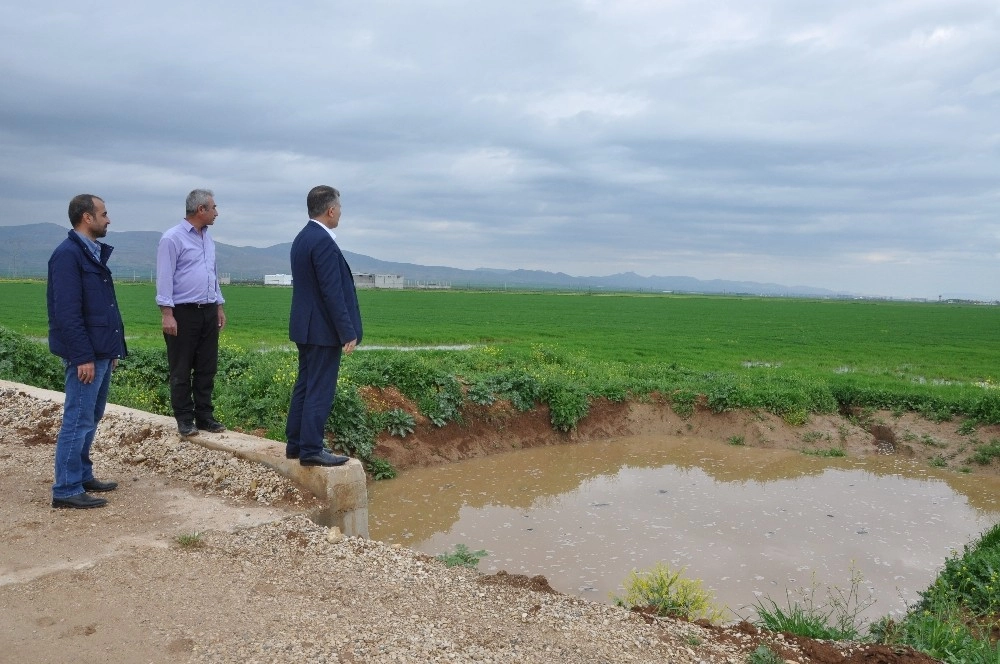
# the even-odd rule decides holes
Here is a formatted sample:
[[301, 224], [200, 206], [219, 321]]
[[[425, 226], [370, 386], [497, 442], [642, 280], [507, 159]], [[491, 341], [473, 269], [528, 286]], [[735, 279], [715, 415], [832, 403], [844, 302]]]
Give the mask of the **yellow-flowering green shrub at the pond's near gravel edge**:
[[715, 605], [711, 594], [704, 590], [701, 581], [686, 579], [684, 570], [671, 571], [663, 563], [648, 572], [633, 570], [625, 579], [625, 594], [613, 597], [617, 606], [651, 608], [658, 616], [671, 616], [685, 620], [706, 619], [717, 622], [725, 614]]

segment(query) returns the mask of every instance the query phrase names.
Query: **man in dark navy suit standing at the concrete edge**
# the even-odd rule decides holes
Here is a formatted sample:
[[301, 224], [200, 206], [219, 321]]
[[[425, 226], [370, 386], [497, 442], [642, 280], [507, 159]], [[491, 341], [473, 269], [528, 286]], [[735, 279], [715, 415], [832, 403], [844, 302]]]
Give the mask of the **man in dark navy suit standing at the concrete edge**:
[[306, 197], [309, 223], [292, 243], [292, 313], [288, 337], [299, 349], [285, 456], [303, 466], [339, 466], [348, 457], [323, 445], [324, 425], [337, 394], [341, 353], [361, 343], [361, 310], [354, 277], [337, 246], [340, 192], [325, 185]]

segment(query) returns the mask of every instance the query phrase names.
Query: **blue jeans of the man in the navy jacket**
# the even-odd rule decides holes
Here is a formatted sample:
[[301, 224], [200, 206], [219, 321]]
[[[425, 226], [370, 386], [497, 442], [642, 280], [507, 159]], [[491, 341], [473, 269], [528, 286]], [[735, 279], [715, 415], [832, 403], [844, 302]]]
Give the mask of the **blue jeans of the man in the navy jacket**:
[[66, 368], [66, 402], [63, 404], [63, 423], [56, 438], [56, 481], [52, 485], [53, 498], [69, 498], [84, 493], [83, 483], [94, 479], [90, 462], [90, 446], [97, 433], [97, 423], [104, 415], [111, 386], [111, 360], [94, 362], [94, 381], [81, 383], [76, 375], [76, 365]]

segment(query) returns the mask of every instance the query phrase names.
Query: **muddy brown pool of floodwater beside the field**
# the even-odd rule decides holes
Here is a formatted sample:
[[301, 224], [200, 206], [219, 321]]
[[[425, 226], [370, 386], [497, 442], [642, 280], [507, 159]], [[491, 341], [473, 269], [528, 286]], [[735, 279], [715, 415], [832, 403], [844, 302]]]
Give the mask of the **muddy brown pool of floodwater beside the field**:
[[[633, 569], [685, 568], [736, 615], [863, 581], [900, 614], [946, 557], [1000, 521], [1000, 479], [892, 456], [828, 459], [689, 437], [519, 450], [369, 485], [371, 537], [430, 555], [485, 549], [486, 573], [544, 575], [610, 602]], [[729, 614], [734, 619], [734, 614]]]

